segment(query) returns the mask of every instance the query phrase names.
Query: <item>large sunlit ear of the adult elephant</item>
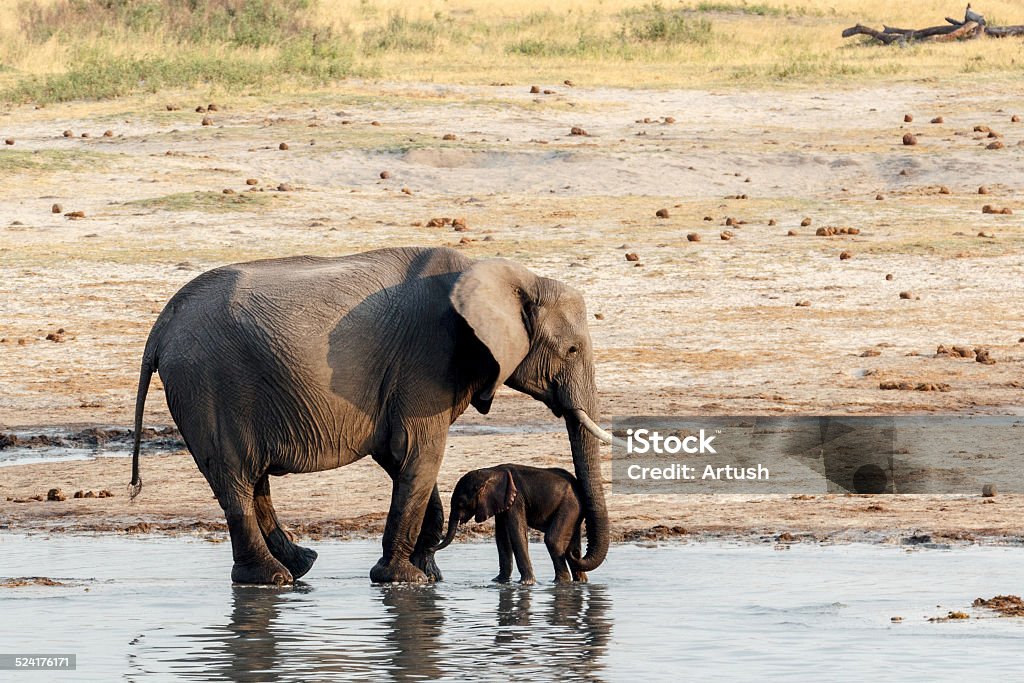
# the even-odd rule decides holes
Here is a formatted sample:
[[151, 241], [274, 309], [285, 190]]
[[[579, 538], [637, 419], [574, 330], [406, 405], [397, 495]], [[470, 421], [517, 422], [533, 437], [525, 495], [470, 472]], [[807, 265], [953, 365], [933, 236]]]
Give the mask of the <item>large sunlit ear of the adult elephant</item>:
[[473, 330], [494, 358], [495, 369], [473, 395], [473, 407], [486, 415], [498, 387], [515, 372], [529, 352], [524, 304], [527, 286], [536, 275], [505, 259], [477, 261], [463, 272], [452, 288], [456, 312]]

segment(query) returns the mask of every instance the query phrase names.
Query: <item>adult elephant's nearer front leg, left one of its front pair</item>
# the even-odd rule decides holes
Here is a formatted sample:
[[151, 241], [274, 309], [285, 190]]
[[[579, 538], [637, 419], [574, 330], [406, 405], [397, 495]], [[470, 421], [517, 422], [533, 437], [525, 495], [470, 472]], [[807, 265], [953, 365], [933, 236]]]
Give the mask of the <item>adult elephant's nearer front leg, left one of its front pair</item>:
[[414, 450], [392, 476], [391, 508], [384, 527], [384, 555], [370, 570], [376, 584], [422, 584], [427, 574], [411, 557], [420, 539], [424, 516], [437, 482], [441, 453]]

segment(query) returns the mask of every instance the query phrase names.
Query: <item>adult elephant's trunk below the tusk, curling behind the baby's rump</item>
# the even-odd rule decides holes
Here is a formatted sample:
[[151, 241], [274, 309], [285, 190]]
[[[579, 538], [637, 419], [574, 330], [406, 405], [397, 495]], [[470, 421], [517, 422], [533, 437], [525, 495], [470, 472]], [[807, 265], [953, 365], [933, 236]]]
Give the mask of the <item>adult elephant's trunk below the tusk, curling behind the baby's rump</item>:
[[595, 413], [593, 408], [590, 412], [578, 409], [565, 413], [565, 429], [583, 494], [584, 519], [587, 520], [587, 554], [569, 558], [579, 571], [593, 571], [600, 566], [608, 554], [610, 541], [608, 510], [604, 503], [601, 478], [600, 442], [585, 426], [587, 423], [596, 426], [592, 419], [592, 416], [596, 417]]

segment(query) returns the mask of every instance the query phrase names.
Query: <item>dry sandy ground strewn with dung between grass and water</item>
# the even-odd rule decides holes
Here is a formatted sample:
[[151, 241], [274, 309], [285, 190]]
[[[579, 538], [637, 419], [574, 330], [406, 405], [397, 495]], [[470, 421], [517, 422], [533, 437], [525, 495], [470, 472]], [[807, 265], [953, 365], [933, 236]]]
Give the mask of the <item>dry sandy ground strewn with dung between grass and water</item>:
[[[0, 425], [130, 424], [150, 326], [209, 267], [406, 244], [500, 254], [580, 288], [600, 314], [592, 335], [606, 417], [1019, 414], [1019, 99], [931, 84], [551, 87], [556, 94], [353, 83], [290, 100], [225, 99], [206, 115], [194, 110], [208, 101], [182, 93], [0, 112], [0, 138], [14, 140], [0, 145]], [[944, 123], [929, 123], [938, 116]], [[573, 126], [587, 134], [571, 135]], [[901, 143], [907, 132], [916, 145]], [[1004, 147], [986, 148], [993, 140]], [[54, 203], [85, 216], [51, 213]], [[982, 213], [985, 204], [1017, 213]], [[655, 217], [662, 208], [668, 218]], [[439, 216], [464, 217], [470, 229], [426, 225]], [[726, 226], [730, 217], [745, 222]], [[860, 232], [817, 237], [825, 226]], [[725, 229], [731, 240], [720, 239]], [[841, 260], [844, 251], [852, 258]], [[61, 328], [62, 341], [46, 339]], [[985, 347], [995, 364], [937, 355], [939, 344]], [[949, 390], [880, 389], [887, 381]], [[146, 422], [169, 424], [159, 384]], [[510, 390], [489, 416], [467, 413], [457, 426], [445, 496], [474, 467], [569, 462], [554, 418]], [[142, 472], [144, 493], [129, 504], [124, 459], [0, 468], [0, 525], [219, 528], [186, 454], [147, 456]], [[305, 533], [382, 527], [389, 485], [372, 462], [273, 485], [283, 517]], [[51, 486], [115, 498], [4, 502]], [[1006, 539], [1024, 501], [612, 495], [609, 506], [620, 538], [680, 526]], [[656, 525], [669, 529], [649, 532]]]

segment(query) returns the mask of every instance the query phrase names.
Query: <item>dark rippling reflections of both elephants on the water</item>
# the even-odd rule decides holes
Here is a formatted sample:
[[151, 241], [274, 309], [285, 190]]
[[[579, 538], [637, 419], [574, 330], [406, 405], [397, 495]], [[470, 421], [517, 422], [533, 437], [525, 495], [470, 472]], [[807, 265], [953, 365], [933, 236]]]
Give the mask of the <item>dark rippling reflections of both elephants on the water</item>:
[[[346, 637], [348, 628], [342, 626], [342, 632], [319, 633], [336, 645], [324, 647], [309, 641], [308, 628], [280, 622], [285, 603], [292, 604], [284, 613], [294, 616], [300, 611], [294, 603], [311, 589], [301, 584], [236, 586], [229, 623], [218, 629], [216, 643], [203, 655], [189, 655], [187, 665], [202, 667], [206, 680], [239, 682], [291, 680], [289, 674], [301, 674], [301, 680], [329, 679], [359, 672], [372, 673], [374, 680], [436, 680], [459, 674], [463, 667], [506, 665], [600, 680], [612, 628], [611, 599], [604, 586], [503, 587], [497, 596], [497, 633], [486, 643], [475, 634], [489, 633], [495, 622], [487, 624], [483, 616], [465, 630], [473, 615], [461, 613], [458, 600], [445, 606], [444, 595], [434, 586], [381, 586], [379, 591], [384, 620], [382, 629], [373, 632], [382, 631], [383, 638], [365, 632]], [[443, 639], [446, 623], [457, 627], [455, 643]]]

